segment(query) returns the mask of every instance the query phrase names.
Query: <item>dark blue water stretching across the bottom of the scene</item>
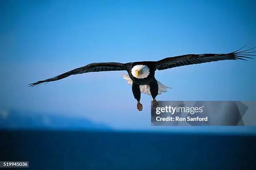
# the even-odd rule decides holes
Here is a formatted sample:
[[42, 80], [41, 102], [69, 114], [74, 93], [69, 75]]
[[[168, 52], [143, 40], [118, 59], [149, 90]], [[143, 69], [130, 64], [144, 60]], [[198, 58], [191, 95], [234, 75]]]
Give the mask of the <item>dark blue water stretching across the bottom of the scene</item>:
[[0, 160], [28, 160], [31, 170], [253, 170], [256, 167], [256, 137], [244, 135], [2, 131], [0, 152]]

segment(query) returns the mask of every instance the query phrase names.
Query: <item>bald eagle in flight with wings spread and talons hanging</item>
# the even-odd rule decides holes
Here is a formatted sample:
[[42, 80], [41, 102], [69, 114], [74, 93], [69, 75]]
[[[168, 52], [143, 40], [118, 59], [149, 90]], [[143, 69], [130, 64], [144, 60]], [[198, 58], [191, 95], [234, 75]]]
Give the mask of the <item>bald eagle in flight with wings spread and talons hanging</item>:
[[[245, 45], [246, 46], [246, 45]], [[245, 47], [244, 46], [244, 47]], [[256, 48], [256, 47], [254, 47]], [[104, 71], [127, 71], [128, 74], [123, 74], [123, 78], [127, 80], [128, 84], [132, 86], [132, 92], [134, 98], [137, 100], [137, 109], [141, 111], [143, 106], [140, 102], [141, 93], [151, 95], [153, 98], [152, 105], [157, 107], [159, 103], [156, 100], [156, 96], [162, 92], [167, 92], [168, 87], [155, 78], [156, 70], [166, 70], [169, 68], [180, 67], [184, 65], [200, 64], [205, 62], [213, 62], [220, 60], [246, 60], [244, 58], [251, 58], [247, 56], [256, 56], [248, 53], [256, 52], [250, 51], [254, 48], [243, 50], [242, 48], [234, 52], [226, 54], [187, 54], [179, 55], [175, 57], [166, 57], [159, 61], [141, 61], [141, 62], [95, 62], [83, 67], [70, 70], [56, 77], [52, 77], [46, 80], [37, 81], [28, 84], [29, 87], [40, 85], [41, 83], [47, 83], [51, 81], [61, 80], [69, 77], [70, 75], [77, 75], [87, 72], [104, 72]], [[246, 60], [247, 61], [247, 60]]]

